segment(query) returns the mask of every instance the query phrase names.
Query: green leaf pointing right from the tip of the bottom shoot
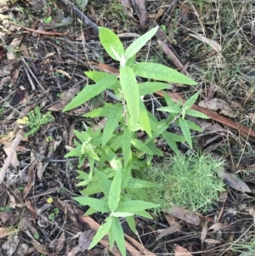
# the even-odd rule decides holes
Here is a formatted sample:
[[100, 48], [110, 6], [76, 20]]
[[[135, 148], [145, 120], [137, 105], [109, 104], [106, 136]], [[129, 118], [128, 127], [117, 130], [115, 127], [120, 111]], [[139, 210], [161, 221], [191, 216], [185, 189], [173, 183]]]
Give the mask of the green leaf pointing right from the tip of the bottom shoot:
[[120, 202], [116, 211], [118, 212], [127, 212], [127, 213], [136, 213], [142, 210], [157, 208], [158, 204], [153, 202], [144, 202], [140, 200], [130, 200], [125, 202]]

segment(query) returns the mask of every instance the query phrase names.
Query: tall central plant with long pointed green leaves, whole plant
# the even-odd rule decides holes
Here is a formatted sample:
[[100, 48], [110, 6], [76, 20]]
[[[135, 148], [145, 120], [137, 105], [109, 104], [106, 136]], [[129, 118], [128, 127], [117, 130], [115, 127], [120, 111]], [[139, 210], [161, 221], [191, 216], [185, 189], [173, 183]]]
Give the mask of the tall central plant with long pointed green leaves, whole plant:
[[[119, 78], [102, 71], [87, 71], [85, 74], [92, 80], [93, 85], [87, 85], [71, 102], [65, 106], [69, 111], [95, 96], [105, 89], [113, 92], [115, 103], [105, 103], [90, 111], [84, 117], [107, 117], [105, 127], [87, 131], [75, 131], [78, 140], [76, 147], [65, 155], [78, 156], [79, 168], [88, 159], [90, 172], [78, 170], [78, 185], [86, 185], [81, 191], [82, 197], [75, 197], [77, 202], [90, 208], [85, 214], [97, 211], [109, 213], [105, 223], [99, 228], [90, 247], [99, 242], [108, 232], [111, 247], [116, 241], [122, 255], [126, 255], [124, 236], [119, 217], [124, 217], [127, 224], [136, 233], [133, 214], [151, 219], [145, 209], [156, 208], [158, 205], [150, 202], [146, 189], [156, 187], [156, 183], [137, 179], [135, 173], [150, 166], [153, 156], [163, 156], [163, 152], [155, 145], [156, 140], [165, 139], [167, 144], [178, 153], [178, 142], [187, 141], [190, 147], [192, 140], [190, 129], [201, 129], [184, 119], [186, 114], [193, 117], [206, 117], [198, 111], [190, 110], [198, 97], [198, 93], [190, 97], [182, 106], [165, 94], [166, 107], [158, 111], [167, 111], [167, 119], [158, 121], [144, 105], [144, 95], [153, 94], [168, 88], [167, 82], [195, 84], [189, 77], [173, 69], [155, 63], [135, 63], [135, 54], [154, 36], [158, 27], [145, 33], [124, 50], [120, 39], [109, 29], [99, 27], [99, 39], [106, 52], [112, 59], [120, 62]], [[136, 77], [152, 79], [138, 83]], [[155, 82], [165, 81], [165, 82]], [[168, 131], [169, 124], [179, 126], [184, 136]], [[138, 132], [143, 130], [144, 141], [139, 139]], [[100, 199], [89, 197], [101, 193]]]

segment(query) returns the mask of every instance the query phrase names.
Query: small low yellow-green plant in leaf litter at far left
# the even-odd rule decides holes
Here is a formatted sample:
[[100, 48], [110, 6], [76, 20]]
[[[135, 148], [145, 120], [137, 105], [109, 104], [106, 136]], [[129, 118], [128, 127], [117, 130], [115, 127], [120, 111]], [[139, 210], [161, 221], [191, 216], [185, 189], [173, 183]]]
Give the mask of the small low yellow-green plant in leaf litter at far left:
[[50, 111], [47, 111], [42, 115], [38, 106], [36, 106], [33, 111], [29, 111], [27, 117], [17, 120], [18, 123], [26, 125], [26, 127], [29, 129], [29, 132], [23, 135], [24, 137], [35, 134], [42, 124], [53, 121], [54, 117], [51, 115]]

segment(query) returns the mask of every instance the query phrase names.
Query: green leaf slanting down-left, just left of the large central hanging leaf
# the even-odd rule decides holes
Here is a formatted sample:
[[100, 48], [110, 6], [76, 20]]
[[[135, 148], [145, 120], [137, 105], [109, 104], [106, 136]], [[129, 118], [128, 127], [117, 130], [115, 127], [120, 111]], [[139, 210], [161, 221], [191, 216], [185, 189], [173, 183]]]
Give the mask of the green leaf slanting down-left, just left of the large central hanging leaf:
[[105, 123], [105, 128], [103, 132], [102, 147], [104, 147], [106, 143], [109, 141], [109, 139], [111, 139], [112, 134], [118, 127], [119, 121], [122, 117], [122, 111], [122, 105], [120, 103], [117, 103], [116, 105], [114, 105], [113, 111], [111, 111], [107, 115], [107, 121]]

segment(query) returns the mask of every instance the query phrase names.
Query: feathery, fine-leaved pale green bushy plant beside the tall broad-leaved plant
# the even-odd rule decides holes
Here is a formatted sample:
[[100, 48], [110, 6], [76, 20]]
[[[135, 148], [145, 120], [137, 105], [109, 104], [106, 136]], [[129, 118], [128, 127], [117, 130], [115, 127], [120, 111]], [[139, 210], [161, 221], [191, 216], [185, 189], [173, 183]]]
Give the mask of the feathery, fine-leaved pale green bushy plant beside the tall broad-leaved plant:
[[148, 191], [151, 202], [159, 202], [160, 210], [167, 212], [173, 205], [207, 212], [218, 200], [218, 192], [224, 191], [224, 182], [217, 174], [222, 165], [223, 162], [212, 156], [195, 153], [165, 158], [161, 164], [144, 172], [157, 184]]

